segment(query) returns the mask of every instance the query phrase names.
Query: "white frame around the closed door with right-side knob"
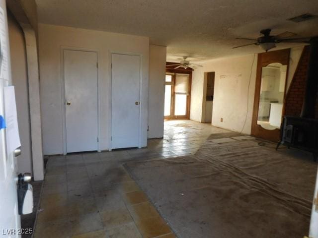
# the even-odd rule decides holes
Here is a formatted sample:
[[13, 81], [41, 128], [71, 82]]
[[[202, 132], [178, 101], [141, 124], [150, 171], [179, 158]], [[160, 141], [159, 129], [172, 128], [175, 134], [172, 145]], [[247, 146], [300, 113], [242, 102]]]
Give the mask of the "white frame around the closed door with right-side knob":
[[139, 56], [139, 128], [138, 128], [138, 148], [142, 148], [141, 146], [141, 126], [142, 126], [142, 107], [143, 107], [143, 75], [142, 75], [142, 62], [143, 62], [143, 54], [135, 53], [135, 52], [122, 52], [122, 51], [109, 51], [108, 52], [108, 70], [109, 70], [109, 87], [108, 87], [108, 102], [109, 102], [109, 118], [108, 118], [108, 150], [111, 151], [112, 148], [112, 55], [126, 55], [126, 56]]

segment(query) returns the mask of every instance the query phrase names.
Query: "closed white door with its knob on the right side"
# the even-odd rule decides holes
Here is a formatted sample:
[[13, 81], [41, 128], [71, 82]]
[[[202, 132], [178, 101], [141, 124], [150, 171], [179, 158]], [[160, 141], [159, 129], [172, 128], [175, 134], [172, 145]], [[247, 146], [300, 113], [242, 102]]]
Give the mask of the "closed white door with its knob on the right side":
[[111, 148], [139, 147], [140, 56], [112, 54]]

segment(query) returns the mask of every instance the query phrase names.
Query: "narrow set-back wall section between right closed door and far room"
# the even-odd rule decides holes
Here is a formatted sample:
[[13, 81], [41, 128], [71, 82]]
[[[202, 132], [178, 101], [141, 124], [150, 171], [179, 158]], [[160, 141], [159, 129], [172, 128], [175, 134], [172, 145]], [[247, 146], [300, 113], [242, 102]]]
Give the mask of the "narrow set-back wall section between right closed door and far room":
[[150, 45], [148, 138], [163, 137], [166, 47]]

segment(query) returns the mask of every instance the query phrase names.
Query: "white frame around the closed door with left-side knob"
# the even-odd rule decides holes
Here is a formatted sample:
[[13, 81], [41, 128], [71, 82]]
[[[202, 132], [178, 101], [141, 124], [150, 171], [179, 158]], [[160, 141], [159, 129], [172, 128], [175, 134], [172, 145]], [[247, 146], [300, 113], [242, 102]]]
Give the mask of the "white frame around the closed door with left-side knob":
[[88, 48], [79, 48], [79, 47], [69, 47], [61, 46], [60, 47], [60, 57], [61, 57], [61, 115], [62, 115], [62, 145], [63, 145], [63, 155], [67, 154], [67, 141], [66, 141], [66, 108], [65, 108], [65, 78], [64, 78], [64, 51], [82, 51], [82, 52], [93, 52], [96, 53], [97, 57], [97, 152], [100, 150], [100, 82], [99, 82], [99, 51], [88, 49]]

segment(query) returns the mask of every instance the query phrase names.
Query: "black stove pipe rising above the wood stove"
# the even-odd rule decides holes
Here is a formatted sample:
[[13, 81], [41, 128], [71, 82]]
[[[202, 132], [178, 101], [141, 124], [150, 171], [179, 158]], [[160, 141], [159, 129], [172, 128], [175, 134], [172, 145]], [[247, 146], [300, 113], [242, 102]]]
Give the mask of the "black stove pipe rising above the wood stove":
[[305, 97], [301, 112], [302, 118], [315, 118], [318, 90], [318, 37], [310, 40], [310, 58], [307, 71]]

